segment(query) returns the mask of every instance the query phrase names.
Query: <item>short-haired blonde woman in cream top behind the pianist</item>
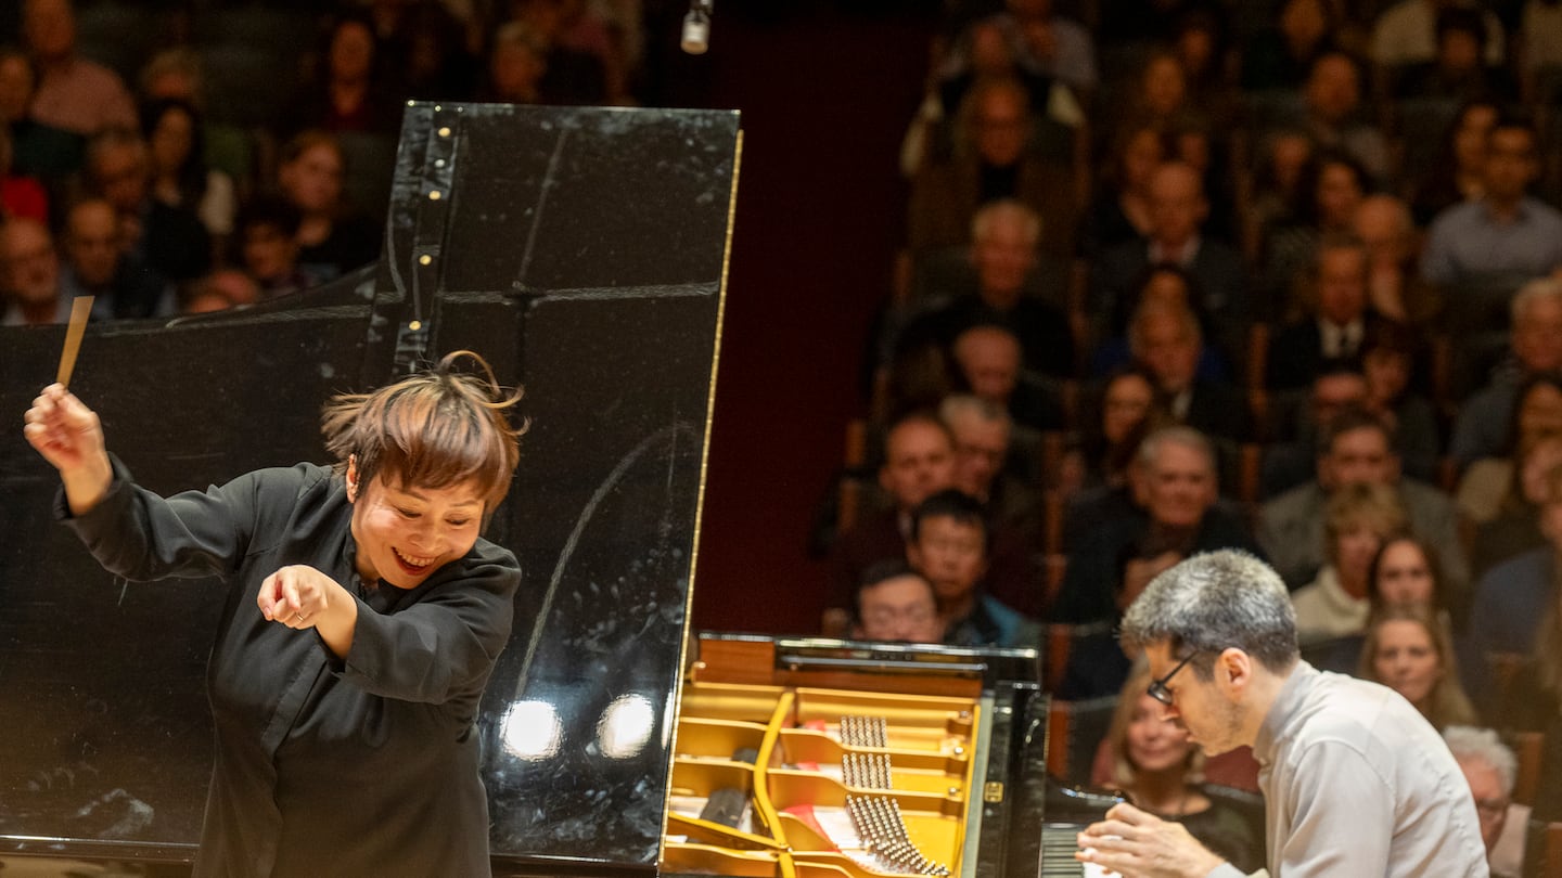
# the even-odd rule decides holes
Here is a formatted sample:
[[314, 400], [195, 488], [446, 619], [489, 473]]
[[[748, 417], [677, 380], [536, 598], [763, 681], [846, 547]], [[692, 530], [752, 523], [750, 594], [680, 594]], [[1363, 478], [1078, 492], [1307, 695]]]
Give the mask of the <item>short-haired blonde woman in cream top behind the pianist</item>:
[[1404, 508], [1384, 484], [1345, 484], [1325, 506], [1328, 562], [1312, 583], [1292, 594], [1296, 637], [1303, 644], [1361, 634], [1371, 601], [1371, 564], [1384, 541], [1404, 528]]

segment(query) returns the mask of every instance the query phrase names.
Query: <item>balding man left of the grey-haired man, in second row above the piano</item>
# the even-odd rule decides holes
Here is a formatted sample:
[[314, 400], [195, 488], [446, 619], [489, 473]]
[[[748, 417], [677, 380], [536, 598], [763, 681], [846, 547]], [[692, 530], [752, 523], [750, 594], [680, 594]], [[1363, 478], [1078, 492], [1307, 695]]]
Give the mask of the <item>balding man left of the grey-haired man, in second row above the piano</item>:
[[884, 434], [878, 484], [887, 509], [842, 533], [831, 548], [831, 606], [850, 606], [862, 572], [875, 561], [904, 558], [911, 516], [928, 497], [954, 484], [954, 439], [929, 412], [912, 412]]

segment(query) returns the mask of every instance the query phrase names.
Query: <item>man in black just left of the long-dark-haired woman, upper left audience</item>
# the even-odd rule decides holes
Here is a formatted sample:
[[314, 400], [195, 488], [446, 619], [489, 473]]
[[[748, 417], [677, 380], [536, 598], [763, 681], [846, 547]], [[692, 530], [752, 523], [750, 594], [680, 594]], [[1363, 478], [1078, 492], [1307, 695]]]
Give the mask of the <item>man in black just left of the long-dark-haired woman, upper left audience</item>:
[[87, 189], [114, 206], [120, 245], [169, 281], [186, 281], [211, 269], [211, 236], [194, 211], [152, 194], [147, 142], [130, 130], [109, 128], [87, 144]]

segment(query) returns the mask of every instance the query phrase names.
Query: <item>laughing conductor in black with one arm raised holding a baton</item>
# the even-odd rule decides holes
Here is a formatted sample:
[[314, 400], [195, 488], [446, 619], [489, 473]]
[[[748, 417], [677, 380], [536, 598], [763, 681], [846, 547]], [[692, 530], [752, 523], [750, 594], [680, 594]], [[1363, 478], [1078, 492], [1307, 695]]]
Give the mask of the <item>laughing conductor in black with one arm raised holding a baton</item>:
[[492, 372], [456, 372], [461, 355], [333, 400], [334, 469], [167, 498], [134, 484], [62, 386], [28, 409], [27, 439], [64, 483], [58, 514], [106, 569], [228, 587], [197, 876], [489, 873], [473, 720], [520, 569], [478, 531], [519, 453], [514, 398]]

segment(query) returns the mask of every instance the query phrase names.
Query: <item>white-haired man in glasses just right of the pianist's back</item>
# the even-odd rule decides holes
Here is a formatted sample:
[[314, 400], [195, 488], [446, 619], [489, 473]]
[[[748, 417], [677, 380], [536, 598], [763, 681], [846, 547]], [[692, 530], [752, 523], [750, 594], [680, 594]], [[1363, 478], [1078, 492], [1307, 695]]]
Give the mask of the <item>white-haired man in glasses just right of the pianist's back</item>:
[[1490, 728], [1451, 725], [1443, 730], [1443, 741], [1470, 783], [1492, 878], [1518, 878], [1529, 823], [1529, 806], [1514, 801], [1518, 758]]

